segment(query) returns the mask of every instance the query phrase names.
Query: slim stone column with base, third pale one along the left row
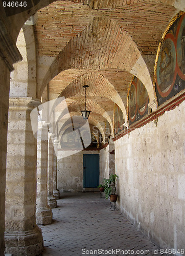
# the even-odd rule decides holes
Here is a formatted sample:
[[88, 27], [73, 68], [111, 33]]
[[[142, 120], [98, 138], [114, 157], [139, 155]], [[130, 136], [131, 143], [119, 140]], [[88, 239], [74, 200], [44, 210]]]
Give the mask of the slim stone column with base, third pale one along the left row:
[[57, 207], [57, 200], [53, 195], [53, 142], [55, 135], [48, 136], [48, 204], [51, 208]]

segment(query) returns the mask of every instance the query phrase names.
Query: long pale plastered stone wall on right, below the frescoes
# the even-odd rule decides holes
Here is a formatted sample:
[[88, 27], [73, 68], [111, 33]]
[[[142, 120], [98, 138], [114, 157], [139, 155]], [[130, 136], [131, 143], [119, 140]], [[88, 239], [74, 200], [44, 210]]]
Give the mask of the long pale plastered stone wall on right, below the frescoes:
[[119, 206], [162, 248], [184, 249], [184, 105], [115, 141]]

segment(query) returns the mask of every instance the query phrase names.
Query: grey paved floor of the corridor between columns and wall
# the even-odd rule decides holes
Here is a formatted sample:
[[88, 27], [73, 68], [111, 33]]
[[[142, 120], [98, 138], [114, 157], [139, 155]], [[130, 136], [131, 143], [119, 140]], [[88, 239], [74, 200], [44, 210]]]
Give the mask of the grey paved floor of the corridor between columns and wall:
[[43, 256], [161, 255], [119, 210], [110, 210], [99, 193], [65, 193], [57, 204], [53, 223], [40, 226]]

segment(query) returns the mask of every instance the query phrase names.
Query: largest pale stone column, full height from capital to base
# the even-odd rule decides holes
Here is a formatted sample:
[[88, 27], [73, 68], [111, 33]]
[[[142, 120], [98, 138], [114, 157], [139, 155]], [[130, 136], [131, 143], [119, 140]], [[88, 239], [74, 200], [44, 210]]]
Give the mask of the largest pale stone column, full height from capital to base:
[[5, 252], [15, 256], [38, 255], [43, 249], [35, 217], [37, 140], [30, 120], [38, 104], [38, 99], [27, 97], [9, 100]]

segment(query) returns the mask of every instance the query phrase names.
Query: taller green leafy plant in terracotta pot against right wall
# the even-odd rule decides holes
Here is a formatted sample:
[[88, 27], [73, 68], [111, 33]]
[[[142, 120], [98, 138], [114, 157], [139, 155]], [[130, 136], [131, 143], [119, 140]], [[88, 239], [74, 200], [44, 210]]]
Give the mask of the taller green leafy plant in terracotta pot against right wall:
[[116, 193], [116, 181], [117, 181], [118, 175], [111, 174], [109, 179], [104, 179], [104, 193], [105, 198], [108, 199], [110, 197], [111, 202], [116, 202], [118, 195]]

